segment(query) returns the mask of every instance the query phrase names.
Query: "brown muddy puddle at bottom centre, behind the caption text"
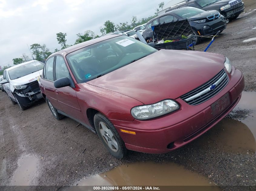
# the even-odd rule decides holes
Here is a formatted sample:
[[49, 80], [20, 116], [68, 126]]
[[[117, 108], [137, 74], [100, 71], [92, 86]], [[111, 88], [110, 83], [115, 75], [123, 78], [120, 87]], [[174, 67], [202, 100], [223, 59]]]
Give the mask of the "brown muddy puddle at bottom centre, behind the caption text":
[[78, 186], [214, 186], [208, 178], [175, 163], [137, 162], [82, 180]]

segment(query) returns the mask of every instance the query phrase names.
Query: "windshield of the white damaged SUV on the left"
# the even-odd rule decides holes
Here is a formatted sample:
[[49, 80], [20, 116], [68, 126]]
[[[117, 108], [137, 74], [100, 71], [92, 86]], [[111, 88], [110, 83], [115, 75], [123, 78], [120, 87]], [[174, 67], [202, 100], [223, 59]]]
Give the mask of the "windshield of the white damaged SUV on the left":
[[10, 79], [14, 80], [14, 79], [26, 76], [28, 74], [37, 72], [38, 70], [42, 70], [43, 67], [44, 67], [44, 64], [42, 62], [33, 61], [25, 65], [20, 65], [16, 68], [10, 69], [8, 73], [9, 73]]

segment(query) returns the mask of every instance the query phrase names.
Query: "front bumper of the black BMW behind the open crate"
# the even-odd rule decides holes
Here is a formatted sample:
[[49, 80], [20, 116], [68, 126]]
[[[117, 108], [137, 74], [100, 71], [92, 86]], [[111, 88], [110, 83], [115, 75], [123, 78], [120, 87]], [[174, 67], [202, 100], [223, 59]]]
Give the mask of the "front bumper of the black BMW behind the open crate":
[[[204, 29], [204, 26], [206, 26], [205, 29]], [[224, 30], [227, 27], [227, 21], [225, 19], [223, 21], [220, 18], [218, 18], [210, 22], [197, 24], [194, 27], [197, 29], [197, 31], [200, 32], [200, 34], [198, 33], [198, 35], [211, 36], [211, 35], [215, 35], [219, 30], [220, 31]]]

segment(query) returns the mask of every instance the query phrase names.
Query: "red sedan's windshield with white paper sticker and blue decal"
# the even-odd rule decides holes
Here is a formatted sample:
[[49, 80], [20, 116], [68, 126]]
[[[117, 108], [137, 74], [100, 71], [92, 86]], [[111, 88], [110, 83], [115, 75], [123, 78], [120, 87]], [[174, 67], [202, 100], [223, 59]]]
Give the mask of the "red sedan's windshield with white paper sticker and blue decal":
[[84, 83], [155, 52], [151, 46], [122, 35], [76, 50], [66, 58], [77, 82]]

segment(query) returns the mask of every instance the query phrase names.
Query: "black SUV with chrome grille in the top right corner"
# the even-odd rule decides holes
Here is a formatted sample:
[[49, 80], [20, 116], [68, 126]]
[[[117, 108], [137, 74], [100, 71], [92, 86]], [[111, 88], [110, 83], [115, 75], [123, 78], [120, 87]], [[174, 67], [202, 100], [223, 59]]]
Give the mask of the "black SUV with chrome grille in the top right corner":
[[205, 11], [219, 11], [226, 19], [233, 20], [238, 18], [244, 11], [244, 2], [242, 0], [188, 0], [172, 6], [165, 12], [181, 7], [197, 7]]

